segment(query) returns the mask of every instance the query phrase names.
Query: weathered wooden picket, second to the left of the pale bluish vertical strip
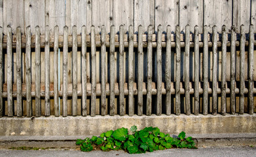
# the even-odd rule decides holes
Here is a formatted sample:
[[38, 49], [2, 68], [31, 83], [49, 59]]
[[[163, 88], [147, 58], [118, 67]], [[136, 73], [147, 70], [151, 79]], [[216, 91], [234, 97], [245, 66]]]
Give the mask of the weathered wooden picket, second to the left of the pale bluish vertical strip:
[[45, 27], [45, 116], [50, 116], [50, 27]]

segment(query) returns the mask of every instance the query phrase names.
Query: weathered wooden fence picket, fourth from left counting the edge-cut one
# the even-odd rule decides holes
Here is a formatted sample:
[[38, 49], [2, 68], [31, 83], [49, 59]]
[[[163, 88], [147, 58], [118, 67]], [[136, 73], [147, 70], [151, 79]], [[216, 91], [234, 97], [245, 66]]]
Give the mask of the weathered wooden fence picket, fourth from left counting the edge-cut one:
[[26, 28], [26, 107], [27, 116], [32, 116], [31, 100], [31, 27]]

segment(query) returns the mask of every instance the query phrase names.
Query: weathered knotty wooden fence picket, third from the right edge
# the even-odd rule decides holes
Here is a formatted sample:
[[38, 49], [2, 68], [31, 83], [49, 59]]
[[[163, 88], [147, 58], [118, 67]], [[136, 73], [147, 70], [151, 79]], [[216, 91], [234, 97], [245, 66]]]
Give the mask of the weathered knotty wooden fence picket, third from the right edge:
[[231, 27], [231, 45], [230, 45], [230, 114], [235, 114], [236, 110], [236, 93], [235, 93], [235, 84], [236, 84], [236, 27]]

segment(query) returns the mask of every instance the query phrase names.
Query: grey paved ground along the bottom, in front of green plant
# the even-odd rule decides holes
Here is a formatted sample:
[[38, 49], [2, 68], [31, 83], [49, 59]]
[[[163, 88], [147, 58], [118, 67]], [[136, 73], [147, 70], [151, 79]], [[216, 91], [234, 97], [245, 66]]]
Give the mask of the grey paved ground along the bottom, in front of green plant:
[[92, 151], [80, 150], [0, 150], [0, 157], [6, 156], [256, 156], [256, 146], [253, 147], [209, 147], [198, 149], [168, 149], [147, 152], [145, 154], [128, 154], [124, 151]]

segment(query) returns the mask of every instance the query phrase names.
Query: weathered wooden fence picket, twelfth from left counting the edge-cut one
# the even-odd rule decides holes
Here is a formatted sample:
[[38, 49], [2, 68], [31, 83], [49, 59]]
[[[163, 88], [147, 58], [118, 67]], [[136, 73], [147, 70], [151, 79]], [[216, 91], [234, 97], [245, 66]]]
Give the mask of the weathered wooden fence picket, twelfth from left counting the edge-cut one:
[[101, 115], [106, 114], [106, 31], [105, 26], [101, 26]]

